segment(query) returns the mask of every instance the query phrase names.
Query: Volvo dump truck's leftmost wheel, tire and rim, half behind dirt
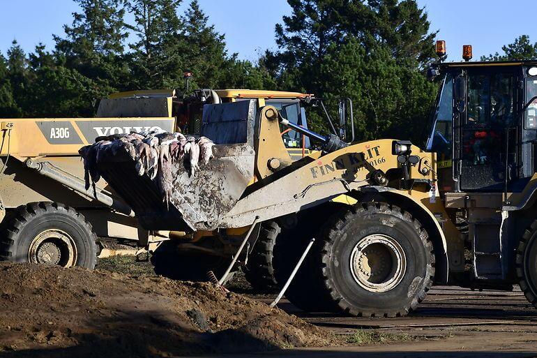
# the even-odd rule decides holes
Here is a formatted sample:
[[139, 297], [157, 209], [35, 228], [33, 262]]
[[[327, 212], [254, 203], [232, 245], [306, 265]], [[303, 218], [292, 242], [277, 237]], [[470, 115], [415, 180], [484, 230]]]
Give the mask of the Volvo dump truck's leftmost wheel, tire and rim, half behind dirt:
[[17, 208], [0, 238], [0, 260], [81, 266], [97, 263], [97, 236], [75, 209], [56, 202]]

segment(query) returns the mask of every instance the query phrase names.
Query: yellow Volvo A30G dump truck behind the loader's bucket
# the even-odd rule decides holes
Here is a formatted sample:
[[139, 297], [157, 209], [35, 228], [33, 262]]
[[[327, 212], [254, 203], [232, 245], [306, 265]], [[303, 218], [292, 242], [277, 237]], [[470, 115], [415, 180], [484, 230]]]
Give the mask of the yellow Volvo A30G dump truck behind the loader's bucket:
[[[255, 98], [257, 108], [266, 99], [289, 113], [298, 111], [295, 122], [305, 126], [296, 103], [311, 98], [278, 91], [197, 92], [194, 99], [178, 98], [173, 90], [113, 94], [100, 102], [97, 118], [0, 119], [0, 260], [93, 268], [97, 237], [137, 240], [141, 247], [169, 238], [141, 228], [107, 183], [95, 190], [84, 186], [78, 149], [97, 137], [151, 129], [173, 132], [190, 125], [184, 119], [195, 107], [191, 103], [200, 107], [207, 100]], [[296, 154], [310, 152], [296, 133], [288, 133], [284, 141]]]

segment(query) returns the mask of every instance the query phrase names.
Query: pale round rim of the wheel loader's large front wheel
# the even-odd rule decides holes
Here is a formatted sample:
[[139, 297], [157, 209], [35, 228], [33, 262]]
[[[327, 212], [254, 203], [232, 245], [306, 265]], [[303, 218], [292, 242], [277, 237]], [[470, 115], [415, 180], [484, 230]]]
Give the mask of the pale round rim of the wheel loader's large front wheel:
[[397, 286], [407, 270], [407, 258], [400, 244], [384, 234], [364, 237], [354, 246], [351, 274], [361, 288], [387, 292]]

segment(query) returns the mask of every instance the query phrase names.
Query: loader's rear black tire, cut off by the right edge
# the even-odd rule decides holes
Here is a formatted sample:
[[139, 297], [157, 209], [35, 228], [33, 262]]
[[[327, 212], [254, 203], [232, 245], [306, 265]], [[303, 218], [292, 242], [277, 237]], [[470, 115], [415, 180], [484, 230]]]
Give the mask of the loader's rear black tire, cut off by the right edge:
[[537, 308], [537, 220], [522, 235], [517, 247], [515, 267], [520, 290]]

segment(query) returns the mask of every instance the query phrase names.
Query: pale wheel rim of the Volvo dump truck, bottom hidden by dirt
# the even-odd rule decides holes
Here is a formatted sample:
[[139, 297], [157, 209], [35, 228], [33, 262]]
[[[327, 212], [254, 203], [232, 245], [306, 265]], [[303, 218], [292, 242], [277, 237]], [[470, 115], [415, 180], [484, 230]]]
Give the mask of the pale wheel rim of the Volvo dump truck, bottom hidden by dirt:
[[31, 241], [28, 260], [37, 264], [72, 267], [77, 262], [77, 246], [66, 232], [59, 229], [45, 230]]

